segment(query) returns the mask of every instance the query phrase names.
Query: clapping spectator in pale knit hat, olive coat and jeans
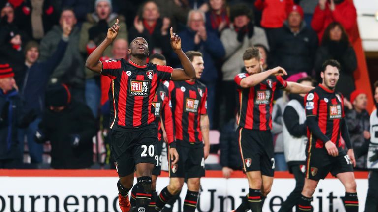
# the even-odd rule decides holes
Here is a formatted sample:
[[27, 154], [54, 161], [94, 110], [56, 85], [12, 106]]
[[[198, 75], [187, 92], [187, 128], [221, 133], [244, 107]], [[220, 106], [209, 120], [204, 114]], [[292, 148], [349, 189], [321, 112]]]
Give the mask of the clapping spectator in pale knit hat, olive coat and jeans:
[[[117, 19], [119, 20], [120, 26], [118, 38], [127, 39], [125, 18], [116, 13], [112, 13], [110, 0], [96, 0], [95, 12], [88, 14], [87, 21], [84, 22], [81, 27], [79, 42], [80, 52], [85, 55], [91, 54], [106, 36], [109, 26], [116, 23]], [[103, 56], [111, 57], [111, 49], [112, 48], [106, 49]], [[94, 116], [97, 117], [101, 98], [100, 75], [87, 68], [85, 69], [85, 74], [85, 100]]]

